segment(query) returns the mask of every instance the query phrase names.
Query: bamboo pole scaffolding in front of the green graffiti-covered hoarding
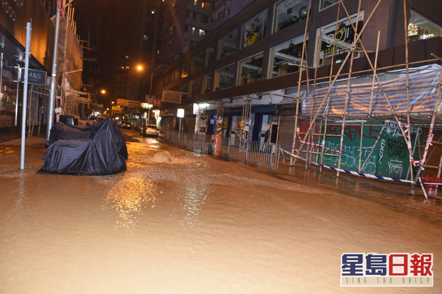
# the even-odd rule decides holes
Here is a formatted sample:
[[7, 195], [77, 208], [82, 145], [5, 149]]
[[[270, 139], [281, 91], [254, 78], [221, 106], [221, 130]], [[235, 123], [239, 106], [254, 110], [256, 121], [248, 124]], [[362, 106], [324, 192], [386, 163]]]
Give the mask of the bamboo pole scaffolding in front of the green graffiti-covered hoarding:
[[[306, 158], [305, 169], [307, 169], [307, 166], [310, 165], [310, 162], [312, 161], [312, 155], [317, 155], [317, 156], [313, 156], [313, 158], [316, 157], [316, 162], [319, 162], [319, 157], [320, 157], [320, 172], [322, 171], [324, 156], [337, 157], [337, 159], [338, 159], [337, 168], [341, 169], [341, 162], [342, 162], [343, 156], [345, 156], [345, 155], [343, 155], [343, 139], [344, 139], [344, 134], [345, 134], [344, 128], [346, 126], [354, 125], [354, 126], [360, 127], [360, 130], [359, 130], [360, 142], [359, 142], [359, 150], [358, 150], [359, 151], [359, 162], [358, 163], [355, 162], [355, 164], [358, 165], [357, 168], [358, 168], [359, 172], [362, 172], [362, 170], [364, 169], [364, 166], [368, 162], [370, 156], [373, 154], [373, 151], [377, 145], [377, 142], [380, 139], [380, 137], [381, 137], [382, 133], [384, 132], [384, 129], [388, 123], [393, 123], [393, 121], [396, 121], [396, 124], [398, 124], [400, 132], [402, 134], [404, 134], [404, 128], [400, 124], [400, 119], [402, 119], [403, 123], [404, 123], [405, 118], [407, 119], [408, 126], [419, 126], [419, 127], [430, 126], [430, 128], [431, 128], [430, 132], [432, 132], [432, 129], [434, 127], [439, 127], [439, 128], [442, 127], [442, 124], [441, 124], [442, 123], [442, 113], [440, 112], [441, 111], [441, 109], [440, 109], [441, 95], [442, 95], [441, 91], [440, 91], [441, 84], [442, 84], [442, 72], [440, 72], [438, 84], [426, 83], [423, 85], [410, 86], [410, 75], [413, 73], [413, 72], [410, 72], [411, 65], [430, 64], [431, 62], [434, 62], [434, 61], [436, 61], [436, 62], [442, 61], [442, 58], [431, 53], [431, 56], [434, 57], [434, 59], [419, 60], [419, 61], [414, 61], [414, 62], [409, 61], [409, 58], [408, 58], [408, 55], [409, 55], [409, 53], [408, 53], [408, 36], [407, 36], [408, 23], [407, 23], [407, 10], [406, 10], [406, 2], [405, 2], [406, 0], [404, 0], [404, 2], [403, 2], [403, 4], [404, 4], [405, 63], [394, 64], [394, 65], [389, 65], [389, 66], [385, 66], [385, 67], [378, 67], [378, 56], [379, 56], [380, 35], [381, 35], [380, 30], [377, 33], [377, 42], [376, 42], [376, 50], [375, 51], [367, 51], [362, 40], [361, 40], [362, 33], [366, 29], [367, 25], [370, 23], [370, 20], [372, 19], [375, 11], [377, 11], [377, 9], [379, 8], [381, 1], [382, 0], [377, 1], [375, 6], [373, 7], [372, 11], [370, 12], [370, 15], [364, 21], [361, 30], [358, 32], [358, 26], [360, 23], [359, 17], [360, 17], [360, 13], [361, 13], [361, 2], [362, 1], [361, 0], [358, 1], [358, 11], [357, 11], [357, 15], [355, 16], [356, 20], [353, 23], [352, 18], [350, 17], [350, 14], [348, 13], [347, 8], [343, 3], [343, 0], [339, 0], [338, 9], [337, 9], [338, 12], [337, 12], [337, 16], [336, 16], [335, 34], [334, 34], [333, 43], [332, 43], [333, 49], [331, 51], [331, 57], [327, 57], [327, 58], [330, 58], [328, 60], [331, 60], [331, 64], [329, 65], [330, 66], [330, 74], [328, 76], [324, 76], [324, 77], [317, 76], [317, 68], [320, 66], [319, 65], [319, 61], [320, 61], [319, 55], [320, 55], [320, 47], [321, 47], [321, 40], [322, 40], [322, 38], [321, 38], [322, 37], [322, 27], [318, 30], [319, 34], [318, 34], [317, 43], [316, 43], [317, 44], [316, 50], [315, 50], [316, 52], [314, 55], [314, 61], [312, 63], [313, 68], [314, 68], [313, 78], [310, 78], [310, 75], [307, 72], [307, 68], [309, 68], [308, 64], [307, 64], [307, 56], [306, 56], [306, 52], [305, 52], [306, 51], [306, 47], [305, 47], [306, 44], [305, 43], [306, 43], [307, 26], [308, 26], [308, 22], [309, 22], [309, 16], [307, 16], [307, 23], [305, 25], [304, 42], [303, 42], [303, 48], [302, 48], [302, 54], [301, 54], [301, 65], [300, 65], [301, 70], [299, 71], [299, 76], [298, 76], [298, 81], [297, 81], [297, 96], [293, 97], [290, 95], [284, 95], [286, 97], [293, 98], [293, 100], [296, 101], [296, 103], [297, 103], [296, 112], [295, 112], [295, 116], [294, 116], [295, 117], [295, 125], [294, 125], [294, 132], [293, 132], [292, 154], [296, 154], [297, 156], [299, 156], [301, 152], [305, 153], [305, 158]], [[308, 7], [310, 10], [311, 0], [309, 1]], [[337, 70], [337, 72], [335, 74], [333, 74], [335, 71], [334, 67], [336, 67], [335, 66], [335, 58], [337, 58], [337, 57], [335, 57], [335, 54], [337, 54], [336, 52], [338, 52], [339, 54], [342, 53], [340, 48], [336, 48], [336, 41], [337, 41], [336, 34], [338, 32], [339, 12], [340, 12], [341, 7], [345, 11], [345, 14], [347, 15], [347, 19], [350, 21], [350, 25], [354, 30], [354, 37], [353, 37], [353, 43], [351, 44], [351, 47], [349, 49], [346, 49], [347, 54], [346, 54], [345, 58], [339, 57], [339, 61], [341, 61], [340, 67]], [[356, 49], [356, 47], [358, 47], [358, 49]], [[362, 50], [359, 50], [359, 47]], [[370, 59], [369, 52], [375, 53], [374, 54], [374, 63]], [[366, 70], [353, 71], [354, 59], [356, 58], [354, 56], [354, 53], [364, 53], [368, 64], [370, 64], [370, 68], [366, 69]], [[349, 62], [349, 64], [347, 64], [347, 61], [349, 61], [349, 59], [350, 59], [350, 62]], [[304, 60], [305, 60], [305, 66], [304, 66]], [[323, 64], [324, 64], [324, 62], [323, 62]], [[344, 67], [348, 68], [348, 72], [342, 73]], [[302, 68], [306, 68], [305, 79], [303, 79], [303, 76], [302, 76], [303, 75]], [[404, 70], [400, 72], [400, 70], [403, 68], [404, 68]], [[406, 82], [405, 86], [394, 87], [394, 88], [384, 88], [383, 83], [381, 82], [379, 76], [382, 75], [383, 73], [385, 73], [386, 71], [389, 71], [392, 69], [393, 70], [397, 69], [398, 74], [405, 75], [404, 76], [405, 82]], [[373, 75], [372, 80], [371, 80], [371, 90], [351, 91], [352, 77], [364, 76], [364, 75]], [[339, 109], [339, 111], [336, 111], [335, 113], [330, 113], [329, 106], [331, 103], [331, 101], [330, 101], [331, 98], [332, 97], [343, 97], [343, 94], [338, 94], [338, 93], [331, 94], [331, 91], [332, 91], [333, 87], [335, 86], [335, 83], [338, 81], [338, 79], [339, 80], [347, 79], [347, 90], [345, 93], [345, 98], [340, 100], [340, 103], [342, 103], [342, 100], [344, 102], [343, 112], [342, 112], [342, 109]], [[327, 80], [328, 80], [328, 85], [326, 84]], [[376, 81], [377, 85], [375, 85], [375, 81]], [[316, 89], [318, 89], [318, 87], [321, 87], [320, 86], [321, 83], [324, 83], [324, 85], [327, 85], [328, 89], [327, 89], [326, 94], [317, 95]], [[309, 97], [310, 93], [305, 98], [300, 97], [301, 85], [302, 86], [306, 85], [308, 92], [310, 92], [310, 85], [313, 86], [311, 97]], [[412, 93], [412, 92], [410, 92], [410, 90], [411, 89], [422, 89], [422, 88], [436, 88], [436, 92], [437, 92], [436, 103], [435, 103], [434, 109], [432, 109], [431, 112], [430, 112], [430, 109], [427, 110], [428, 112], [413, 111], [416, 108], [415, 108], [414, 104], [412, 104], [410, 102], [411, 93]], [[391, 93], [392, 91], [398, 91], [398, 90], [404, 91], [404, 92], [406, 91], [407, 101], [406, 101], [406, 109], [405, 110], [398, 109], [398, 112], [396, 112], [393, 107], [393, 104], [391, 103], [389, 93]], [[366, 112], [363, 114], [356, 114], [356, 115], [350, 114], [350, 112], [348, 111], [348, 107], [349, 107], [348, 104], [351, 99], [350, 95], [354, 95], [354, 94], [370, 94], [370, 106], [368, 108], [368, 113]], [[375, 106], [373, 98], [379, 94], [384, 96], [385, 102], [387, 102], [387, 104], [388, 104], [387, 107], [384, 107], [385, 113], [376, 113], [376, 112], [380, 112], [380, 111], [378, 110], [378, 107]], [[299, 104], [301, 103], [302, 100], [305, 100], [305, 99], [311, 99], [312, 109], [311, 109], [311, 111], [303, 114], [303, 113], [300, 113], [300, 109], [299, 109], [300, 105]], [[318, 103], [318, 101], [319, 101], [319, 103]], [[367, 111], [367, 110], [365, 109], [364, 111]], [[373, 111], [375, 113], [373, 113]], [[347, 112], [349, 112], [349, 113], [347, 113]], [[299, 130], [298, 130], [299, 120], [303, 119], [302, 118], [303, 116], [309, 117], [309, 127], [306, 131], [299, 132]], [[318, 117], [320, 117], [320, 118], [318, 119]], [[338, 121], [338, 119], [336, 117], [342, 117], [341, 124], [336, 122], [336, 121]], [[362, 117], [365, 117], [365, 118], [366, 117], [373, 117], [373, 118], [378, 117], [378, 118], [384, 118], [384, 119], [386, 119], [386, 121], [384, 124], [370, 124], [370, 123], [366, 124], [366, 121], [362, 121], [360, 124], [351, 124], [351, 123], [348, 124], [347, 123], [347, 121], [351, 121], [351, 118], [362, 118]], [[391, 121], [391, 120], [393, 120], [393, 121]], [[430, 124], [428, 124], [428, 121], [431, 121]], [[319, 130], [320, 130], [319, 132], [316, 130], [316, 123], [319, 124]], [[439, 123], [439, 124], [435, 124], [435, 123]], [[339, 134], [327, 134], [328, 126], [331, 126], [331, 125], [341, 125], [340, 135]], [[381, 131], [379, 132], [379, 136], [378, 136], [376, 142], [373, 144], [373, 147], [364, 147], [366, 149], [371, 148], [371, 151], [370, 151], [369, 155], [366, 157], [365, 161], [362, 163], [364, 127], [369, 127], [369, 126], [381, 126], [382, 128], [381, 128]], [[324, 129], [323, 129], [323, 127], [324, 127]], [[411, 127], [408, 127], [406, 132], [407, 132], [407, 134], [404, 134], [405, 136], [403, 136], [403, 137], [404, 137], [405, 143], [407, 145], [409, 156], [410, 156], [410, 158], [412, 158], [412, 156], [415, 153], [415, 148], [420, 146], [420, 143], [419, 144], [416, 143], [418, 140], [420, 140], [419, 133], [417, 134], [417, 136], [414, 140], [415, 141], [414, 147], [412, 148]], [[302, 135], [303, 135], [304, 139], [301, 139]], [[297, 136], [300, 136], [299, 139], [301, 141], [301, 146], [298, 148], [298, 150], [295, 150], [295, 143], [297, 140]], [[316, 146], [310, 144], [310, 143], [316, 143], [316, 138], [314, 138], [314, 136], [318, 136], [318, 139], [317, 139], [318, 142], [317, 142], [317, 144], [315, 144]], [[325, 142], [328, 137], [338, 137], [338, 136], [340, 137], [338, 154], [325, 153], [324, 147], [321, 148], [321, 147], [317, 146], [317, 145], [325, 146]], [[321, 138], [322, 138], [322, 143], [320, 142]], [[441, 138], [442, 138], [442, 136], [441, 136]], [[441, 139], [439, 139], [439, 141], [440, 140]], [[442, 143], [434, 143], [434, 144], [442, 145]], [[304, 145], [307, 145], [307, 147], [305, 148], [305, 150], [302, 150]], [[315, 148], [315, 147], [317, 147], [317, 148]], [[332, 149], [337, 149], [336, 147], [333, 147]], [[320, 151], [319, 151], [319, 148], [321, 148]], [[425, 146], [425, 148], [426, 148], [426, 152], [427, 152], [428, 143]], [[425, 162], [423, 162], [421, 164], [421, 166], [438, 169], [438, 177], [440, 177], [440, 175], [442, 173], [442, 155], [439, 160], [439, 166], [432, 166], [432, 165], [425, 164], [426, 162], [428, 162], [428, 159], [431, 157], [431, 155], [434, 151], [434, 148], [435, 147], [433, 147], [433, 150], [430, 152], [430, 155], [428, 156], [428, 158], [425, 158]], [[296, 151], [296, 153], [294, 151]], [[364, 155], [366, 154], [365, 153], [366, 151], [368, 151], [368, 150], [364, 149]], [[418, 151], [420, 152], [420, 149]], [[423, 155], [423, 157], [426, 156], [426, 152]], [[297, 161], [297, 158], [292, 156], [290, 159], [290, 166], [293, 166], [296, 161]], [[334, 161], [334, 162], [336, 162], [336, 161]], [[412, 161], [410, 161], [410, 166], [409, 166], [408, 172], [410, 172], [409, 178], [413, 182], [413, 173], [411, 172], [412, 166], [416, 166], [416, 164], [413, 163]], [[408, 178], [408, 172], [407, 172], [407, 178]], [[416, 182], [416, 181], [422, 182], [421, 178], [419, 176], [420, 173], [421, 173], [421, 169], [419, 169], [418, 173], [415, 175], [414, 182]], [[339, 170], [337, 170], [336, 177], [337, 178], [339, 177]], [[412, 189], [410, 191], [411, 195], [414, 195], [414, 187], [415, 187], [415, 184], [412, 184]], [[425, 192], [423, 185], [421, 185], [421, 188], [422, 188], [424, 196], [427, 198], [427, 194]]]

